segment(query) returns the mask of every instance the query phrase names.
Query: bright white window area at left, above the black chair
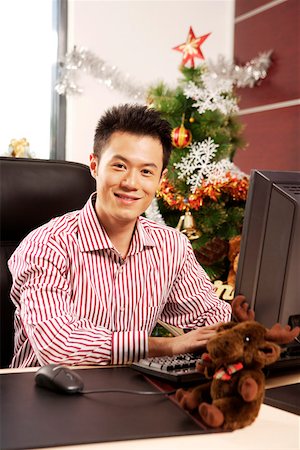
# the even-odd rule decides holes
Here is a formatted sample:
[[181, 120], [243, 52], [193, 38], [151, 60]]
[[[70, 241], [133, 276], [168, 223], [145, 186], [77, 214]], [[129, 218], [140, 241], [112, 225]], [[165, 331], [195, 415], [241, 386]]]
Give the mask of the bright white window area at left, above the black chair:
[[52, 0], [1, 2], [0, 46], [0, 154], [10, 154], [12, 139], [26, 138], [30, 153], [47, 159], [57, 47]]

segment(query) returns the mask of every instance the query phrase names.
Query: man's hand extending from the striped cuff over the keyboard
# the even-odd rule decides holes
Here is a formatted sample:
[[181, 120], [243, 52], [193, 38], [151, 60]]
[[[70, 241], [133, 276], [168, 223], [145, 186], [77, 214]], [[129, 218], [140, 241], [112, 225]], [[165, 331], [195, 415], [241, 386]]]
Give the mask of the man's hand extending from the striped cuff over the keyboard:
[[209, 325], [197, 328], [186, 334], [176, 337], [149, 337], [150, 358], [154, 356], [172, 356], [180, 353], [189, 353], [205, 350], [208, 339], [215, 336], [217, 328], [221, 324]]

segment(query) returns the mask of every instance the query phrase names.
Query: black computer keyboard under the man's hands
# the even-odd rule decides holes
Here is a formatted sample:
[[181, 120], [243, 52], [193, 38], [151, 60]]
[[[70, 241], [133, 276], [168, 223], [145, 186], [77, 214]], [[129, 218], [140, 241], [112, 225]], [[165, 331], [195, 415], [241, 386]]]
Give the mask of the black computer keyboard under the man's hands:
[[176, 356], [163, 356], [141, 359], [133, 363], [135, 370], [175, 383], [204, 381], [205, 377], [196, 370], [196, 362], [200, 355], [185, 353]]

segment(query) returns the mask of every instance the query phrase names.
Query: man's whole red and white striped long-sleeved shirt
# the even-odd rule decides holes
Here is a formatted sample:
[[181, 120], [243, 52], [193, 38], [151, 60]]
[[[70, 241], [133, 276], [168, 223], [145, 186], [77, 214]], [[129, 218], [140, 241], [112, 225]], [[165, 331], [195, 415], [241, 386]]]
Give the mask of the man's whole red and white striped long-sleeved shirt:
[[93, 200], [31, 232], [9, 260], [12, 367], [124, 364], [147, 356], [158, 318], [182, 328], [230, 319], [182, 233], [139, 217], [123, 260]]

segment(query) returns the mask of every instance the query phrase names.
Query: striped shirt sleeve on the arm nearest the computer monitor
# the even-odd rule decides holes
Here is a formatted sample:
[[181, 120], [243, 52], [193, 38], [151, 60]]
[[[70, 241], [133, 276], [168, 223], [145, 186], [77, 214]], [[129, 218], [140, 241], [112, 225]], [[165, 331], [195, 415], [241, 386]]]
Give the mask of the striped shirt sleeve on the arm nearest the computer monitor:
[[187, 239], [185, 257], [161, 319], [179, 328], [190, 329], [231, 319], [231, 306], [217, 297]]

